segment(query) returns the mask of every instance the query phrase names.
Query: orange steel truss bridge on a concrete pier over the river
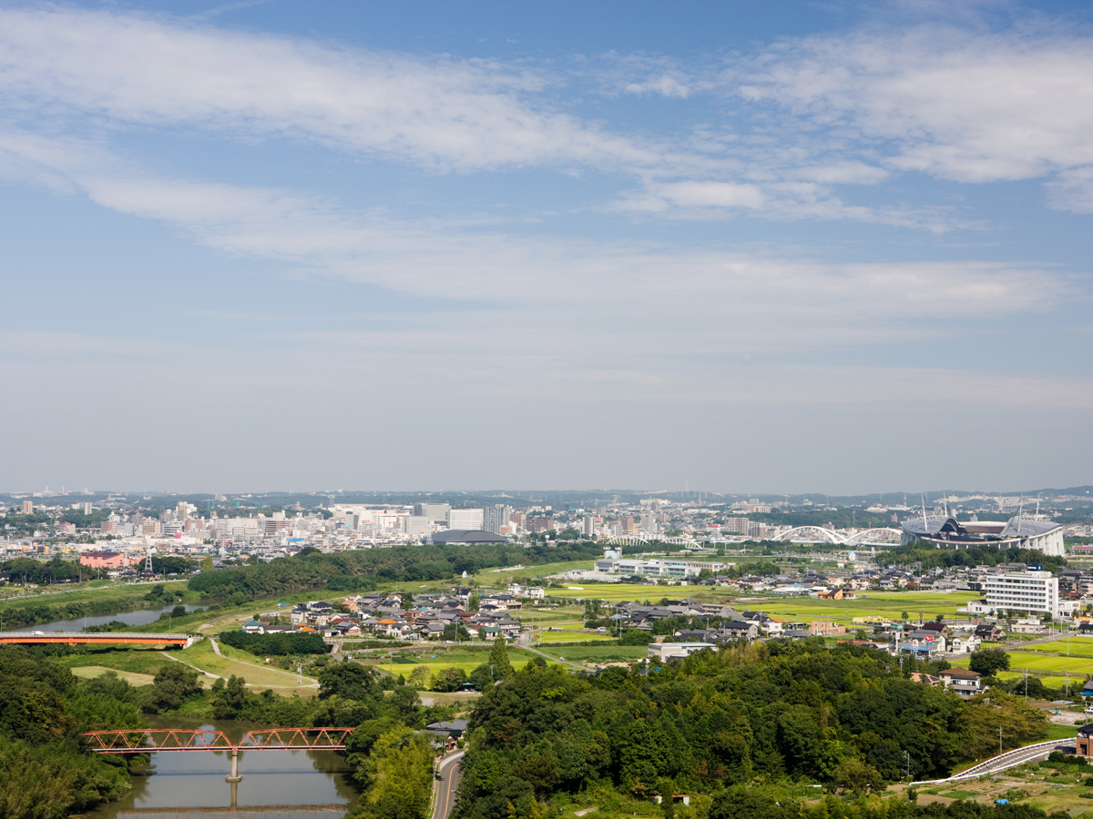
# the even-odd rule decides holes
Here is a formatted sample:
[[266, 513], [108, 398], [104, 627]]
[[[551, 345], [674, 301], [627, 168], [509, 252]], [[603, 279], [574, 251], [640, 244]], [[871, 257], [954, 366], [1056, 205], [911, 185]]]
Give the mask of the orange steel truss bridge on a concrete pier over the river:
[[240, 750], [344, 750], [353, 728], [263, 728], [250, 731], [235, 745], [222, 731], [208, 728], [122, 728], [84, 734], [99, 753], [162, 751], [232, 751], [228, 782], [238, 782]]

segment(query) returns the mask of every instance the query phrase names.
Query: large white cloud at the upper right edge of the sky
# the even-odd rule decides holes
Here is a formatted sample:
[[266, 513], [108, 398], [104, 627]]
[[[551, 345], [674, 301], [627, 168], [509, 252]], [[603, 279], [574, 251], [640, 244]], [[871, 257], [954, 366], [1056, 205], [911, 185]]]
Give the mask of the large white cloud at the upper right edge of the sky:
[[[1093, 165], [1093, 40], [939, 26], [788, 40], [728, 75], [810, 129], [963, 182]], [[828, 130], [831, 129], [831, 130]]]

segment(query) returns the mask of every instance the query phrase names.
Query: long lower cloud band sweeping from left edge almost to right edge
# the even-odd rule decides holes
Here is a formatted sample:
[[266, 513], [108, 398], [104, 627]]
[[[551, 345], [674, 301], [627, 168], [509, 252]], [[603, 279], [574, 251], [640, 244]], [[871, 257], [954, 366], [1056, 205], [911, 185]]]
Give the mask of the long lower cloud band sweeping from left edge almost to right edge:
[[[1081, 295], [1066, 276], [1037, 265], [832, 264], [694, 245], [400, 222], [294, 191], [156, 177], [84, 143], [13, 132], [0, 132], [0, 173], [4, 168], [15, 168], [20, 178], [36, 174], [114, 211], [174, 225], [232, 256], [520, 316], [585, 321], [610, 305], [604, 325], [642, 316], [687, 327], [697, 316], [714, 320], [731, 310], [747, 317], [726, 331], [733, 343], [860, 343], [916, 333], [924, 321], [1048, 310]], [[748, 186], [681, 183], [662, 191], [689, 206], [762, 204]], [[710, 343], [724, 344], [726, 333]]]

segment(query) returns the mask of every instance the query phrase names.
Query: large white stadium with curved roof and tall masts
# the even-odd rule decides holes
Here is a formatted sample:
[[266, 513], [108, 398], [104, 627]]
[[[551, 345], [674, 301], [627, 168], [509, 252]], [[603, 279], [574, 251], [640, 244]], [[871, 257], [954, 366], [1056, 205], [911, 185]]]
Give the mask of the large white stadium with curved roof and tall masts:
[[935, 546], [966, 549], [971, 546], [1036, 549], [1045, 555], [1063, 554], [1062, 526], [1054, 521], [1030, 520], [1018, 515], [1001, 521], [967, 521], [935, 514], [903, 522], [901, 543], [926, 541]]

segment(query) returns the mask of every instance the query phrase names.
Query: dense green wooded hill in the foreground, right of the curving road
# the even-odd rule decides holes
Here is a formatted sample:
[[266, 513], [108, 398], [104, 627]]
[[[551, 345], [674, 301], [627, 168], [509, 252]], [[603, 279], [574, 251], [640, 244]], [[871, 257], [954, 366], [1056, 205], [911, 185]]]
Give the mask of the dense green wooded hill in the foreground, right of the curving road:
[[637, 798], [778, 781], [871, 792], [989, 755], [999, 727], [1007, 747], [1046, 735], [1018, 697], [965, 702], [909, 673], [875, 650], [820, 641], [599, 676], [528, 663], [473, 710], [457, 819], [533, 818], [552, 795], [603, 786]]

